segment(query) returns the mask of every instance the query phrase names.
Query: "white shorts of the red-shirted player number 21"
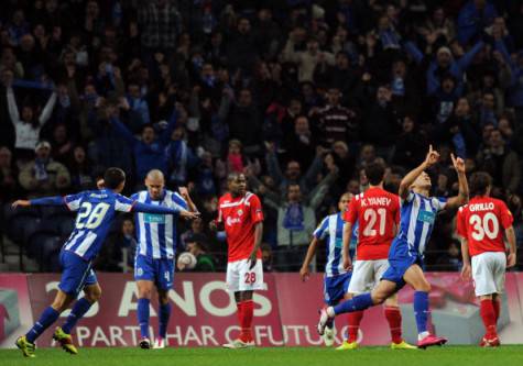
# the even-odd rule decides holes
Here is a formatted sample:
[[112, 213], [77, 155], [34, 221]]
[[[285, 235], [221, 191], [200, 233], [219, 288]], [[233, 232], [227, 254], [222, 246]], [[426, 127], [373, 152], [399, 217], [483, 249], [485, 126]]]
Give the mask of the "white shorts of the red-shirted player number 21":
[[389, 269], [388, 259], [356, 260], [348, 292], [369, 292], [378, 285], [386, 269]]

